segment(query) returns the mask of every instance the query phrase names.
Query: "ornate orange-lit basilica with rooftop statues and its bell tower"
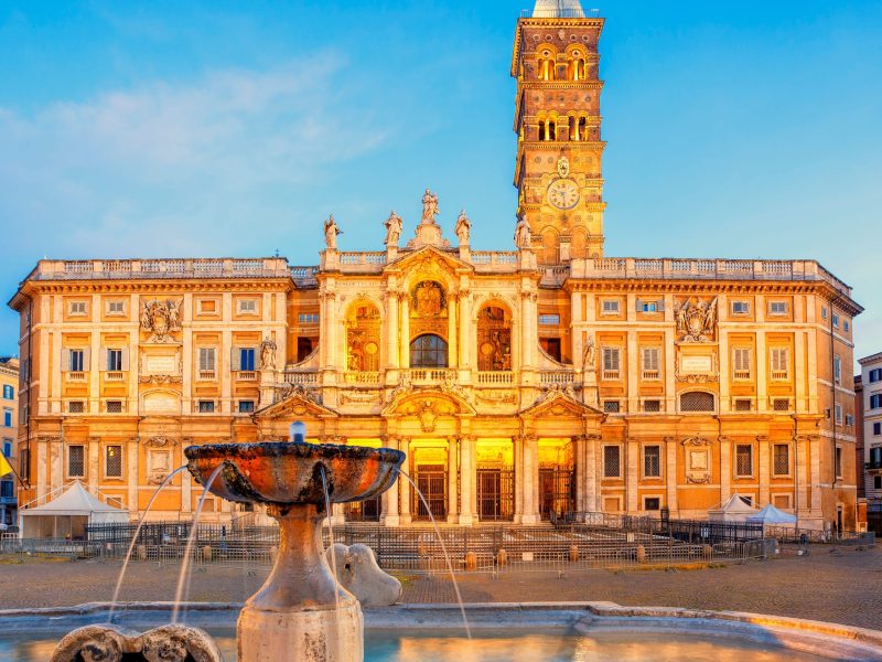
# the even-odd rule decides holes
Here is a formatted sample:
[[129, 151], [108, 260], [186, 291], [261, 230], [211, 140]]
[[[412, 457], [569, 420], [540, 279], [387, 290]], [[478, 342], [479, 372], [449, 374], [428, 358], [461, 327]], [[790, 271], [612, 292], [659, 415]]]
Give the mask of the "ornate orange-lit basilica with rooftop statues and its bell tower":
[[[283, 439], [302, 420], [310, 441], [405, 451], [452, 524], [706, 517], [738, 493], [853, 528], [860, 306], [810, 259], [604, 255], [603, 19], [566, 4], [517, 23], [505, 250], [473, 250], [465, 214], [445, 236], [427, 190], [416, 229], [377, 222], [376, 250], [338, 249], [329, 218], [316, 266], [41, 260], [10, 302], [20, 504], [80, 480], [136, 519], [184, 447]], [[151, 519], [189, 517], [201, 493], [175, 476]], [[337, 515], [429, 512], [399, 481]]]

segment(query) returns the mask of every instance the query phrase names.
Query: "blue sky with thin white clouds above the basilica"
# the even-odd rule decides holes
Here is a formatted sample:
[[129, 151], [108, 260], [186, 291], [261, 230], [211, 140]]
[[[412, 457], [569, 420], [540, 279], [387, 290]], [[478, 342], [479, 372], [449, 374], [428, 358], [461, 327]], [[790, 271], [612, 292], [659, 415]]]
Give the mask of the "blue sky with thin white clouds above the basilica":
[[[609, 0], [610, 256], [813, 258], [882, 351], [882, 1]], [[43, 257], [318, 263], [512, 248], [512, 42], [530, 0], [0, 0], [0, 296]], [[0, 311], [0, 353], [18, 351]]]

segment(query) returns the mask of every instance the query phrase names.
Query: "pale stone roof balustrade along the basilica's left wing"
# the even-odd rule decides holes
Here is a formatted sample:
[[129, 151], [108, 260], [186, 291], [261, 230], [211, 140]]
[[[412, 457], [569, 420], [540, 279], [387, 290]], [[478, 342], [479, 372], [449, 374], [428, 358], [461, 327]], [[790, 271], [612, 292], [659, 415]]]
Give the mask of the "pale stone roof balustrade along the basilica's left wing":
[[40, 260], [34, 280], [97, 280], [126, 278], [284, 278], [290, 275], [282, 257]]

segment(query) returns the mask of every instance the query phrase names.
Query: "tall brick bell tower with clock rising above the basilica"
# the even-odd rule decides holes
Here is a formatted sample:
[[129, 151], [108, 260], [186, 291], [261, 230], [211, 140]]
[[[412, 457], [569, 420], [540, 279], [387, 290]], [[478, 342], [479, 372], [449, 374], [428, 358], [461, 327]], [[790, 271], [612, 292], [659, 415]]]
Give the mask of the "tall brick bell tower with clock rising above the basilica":
[[579, 0], [537, 0], [517, 22], [512, 76], [518, 216], [540, 264], [603, 256], [598, 41], [603, 19]]

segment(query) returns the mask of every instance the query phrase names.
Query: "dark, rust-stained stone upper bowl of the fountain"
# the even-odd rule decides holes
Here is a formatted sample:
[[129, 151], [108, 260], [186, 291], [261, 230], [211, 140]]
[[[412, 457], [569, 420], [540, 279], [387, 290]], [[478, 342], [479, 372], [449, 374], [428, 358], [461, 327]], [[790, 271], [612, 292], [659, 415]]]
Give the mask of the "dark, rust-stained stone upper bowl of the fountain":
[[391, 448], [266, 441], [208, 444], [184, 449], [187, 469], [208, 490], [228, 501], [290, 505], [325, 504], [322, 471], [332, 503], [363, 501], [386, 491], [398, 478], [405, 453]]

